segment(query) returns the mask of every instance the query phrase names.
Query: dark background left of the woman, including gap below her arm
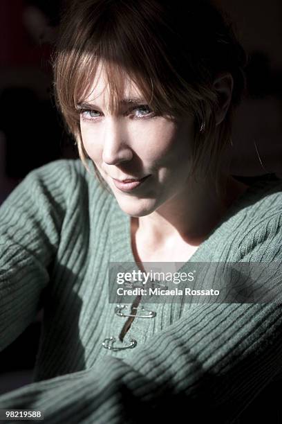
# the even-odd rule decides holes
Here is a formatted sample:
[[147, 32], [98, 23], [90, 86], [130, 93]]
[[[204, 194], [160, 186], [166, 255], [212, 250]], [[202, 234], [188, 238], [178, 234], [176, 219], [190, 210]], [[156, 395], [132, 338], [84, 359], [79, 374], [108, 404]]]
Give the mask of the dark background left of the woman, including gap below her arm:
[[[50, 59], [64, 3], [0, 1], [0, 204], [30, 170], [78, 157], [52, 89]], [[0, 394], [31, 381], [41, 317], [0, 352]]]

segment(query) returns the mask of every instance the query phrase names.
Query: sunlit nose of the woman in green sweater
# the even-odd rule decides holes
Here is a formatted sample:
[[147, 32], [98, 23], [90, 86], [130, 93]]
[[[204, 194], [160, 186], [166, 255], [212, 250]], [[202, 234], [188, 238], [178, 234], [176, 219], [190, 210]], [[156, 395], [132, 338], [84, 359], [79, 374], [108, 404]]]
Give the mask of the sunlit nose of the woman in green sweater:
[[117, 165], [131, 160], [133, 153], [126, 139], [124, 125], [116, 118], [109, 118], [104, 128], [102, 159], [105, 164]]

